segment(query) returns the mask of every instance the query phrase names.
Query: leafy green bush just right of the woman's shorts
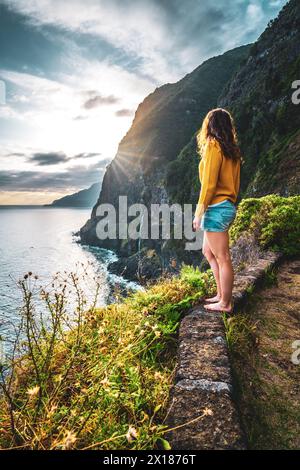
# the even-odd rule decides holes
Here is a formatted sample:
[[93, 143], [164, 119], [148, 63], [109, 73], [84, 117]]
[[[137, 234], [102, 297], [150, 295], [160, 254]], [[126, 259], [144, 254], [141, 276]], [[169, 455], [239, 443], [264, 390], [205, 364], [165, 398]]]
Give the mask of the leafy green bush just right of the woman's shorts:
[[242, 234], [254, 236], [263, 248], [285, 255], [300, 254], [300, 196], [271, 194], [244, 199], [230, 229], [231, 241], [236, 242]]

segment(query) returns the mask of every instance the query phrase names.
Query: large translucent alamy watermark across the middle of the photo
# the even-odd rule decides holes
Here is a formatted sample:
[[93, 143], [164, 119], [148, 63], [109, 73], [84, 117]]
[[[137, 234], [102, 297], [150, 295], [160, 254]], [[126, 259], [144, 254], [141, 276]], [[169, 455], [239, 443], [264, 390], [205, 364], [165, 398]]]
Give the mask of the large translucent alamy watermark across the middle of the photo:
[[194, 232], [192, 204], [145, 204], [128, 206], [127, 196], [119, 196], [118, 208], [100, 204], [96, 226], [99, 240], [187, 240], [186, 250], [199, 250], [203, 232]]

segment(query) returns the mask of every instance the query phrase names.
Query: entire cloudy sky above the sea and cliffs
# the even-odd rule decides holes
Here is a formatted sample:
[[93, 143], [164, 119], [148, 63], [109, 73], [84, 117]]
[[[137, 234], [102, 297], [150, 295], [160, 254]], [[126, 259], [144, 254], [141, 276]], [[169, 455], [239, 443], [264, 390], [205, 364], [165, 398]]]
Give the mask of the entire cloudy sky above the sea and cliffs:
[[99, 181], [145, 96], [255, 41], [285, 3], [0, 0], [0, 204]]

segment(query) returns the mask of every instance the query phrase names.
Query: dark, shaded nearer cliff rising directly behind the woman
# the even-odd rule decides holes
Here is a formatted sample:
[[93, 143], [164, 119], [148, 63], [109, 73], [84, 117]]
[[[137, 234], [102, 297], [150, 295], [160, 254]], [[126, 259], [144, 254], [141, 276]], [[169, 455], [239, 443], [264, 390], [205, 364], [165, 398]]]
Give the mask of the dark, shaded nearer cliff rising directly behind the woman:
[[[242, 196], [299, 194], [300, 105], [292, 83], [300, 79], [300, 3], [290, 1], [250, 49], [249, 57], [220, 91], [218, 105], [236, 121], [245, 163]], [[195, 202], [199, 191], [196, 139], [168, 166], [172, 200]]]

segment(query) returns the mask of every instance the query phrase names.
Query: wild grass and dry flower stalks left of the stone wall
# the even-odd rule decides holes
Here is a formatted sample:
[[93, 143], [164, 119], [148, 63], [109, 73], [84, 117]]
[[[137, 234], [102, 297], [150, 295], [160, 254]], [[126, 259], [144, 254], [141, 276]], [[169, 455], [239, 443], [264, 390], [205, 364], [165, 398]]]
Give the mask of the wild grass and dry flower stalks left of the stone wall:
[[[29, 273], [20, 288], [22, 322], [1, 365], [0, 446], [168, 448], [164, 419], [179, 319], [214, 291], [211, 272], [184, 267], [177, 278], [97, 309], [88, 308], [74, 274], [58, 275], [46, 292]], [[77, 298], [71, 318], [70, 289]]]

